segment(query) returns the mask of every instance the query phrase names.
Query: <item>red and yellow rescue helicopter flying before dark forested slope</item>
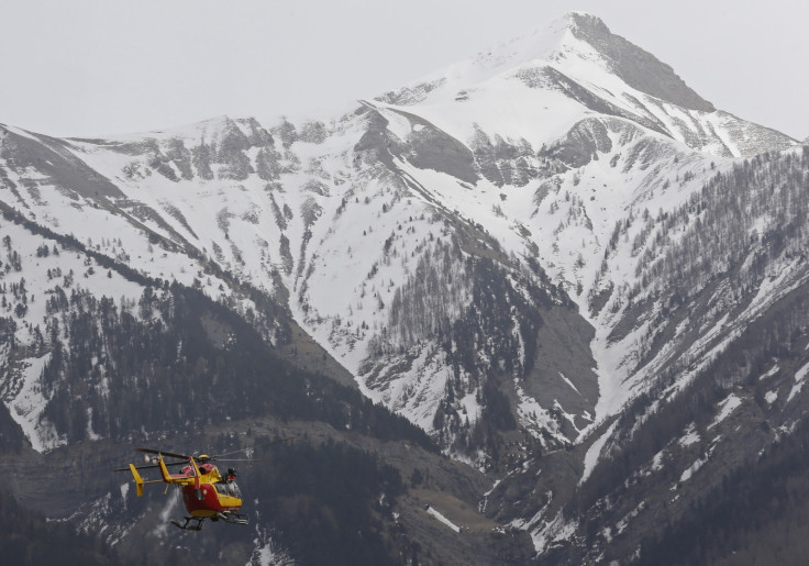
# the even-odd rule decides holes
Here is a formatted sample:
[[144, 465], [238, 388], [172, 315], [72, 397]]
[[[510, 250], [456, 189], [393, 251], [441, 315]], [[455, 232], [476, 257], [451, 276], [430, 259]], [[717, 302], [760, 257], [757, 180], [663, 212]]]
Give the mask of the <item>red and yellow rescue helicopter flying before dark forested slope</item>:
[[[276, 441], [286, 442], [291, 439]], [[130, 464], [128, 468], [118, 468], [114, 471], [131, 471], [135, 479], [135, 489], [137, 497], [143, 496], [143, 489], [146, 484], [166, 484], [166, 492], [170, 485], [179, 487], [182, 491], [182, 502], [186, 506], [188, 515], [185, 523], [173, 520], [175, 526], [188, 530], [199, 531], [202, 529], [202, 522], [206, 519], [211, 521], [223, 521], [231, 524], [248, 524], [250, 520], [246, 514], [240, 513], [242, 508], [242, 492], [236, 485], [236, 470], [228, 468], [228, 473], [222, 475], [219, 468], [211, 464], [213, 460], [220, 459], [221, 456], [228, 456], [237, 452], [244, 452], [251, 448], [242, 448], [240, 451], [218, 456], [189, 456], [186, 454], [175, 454], [171, 452], [153, 450], [153, 448], [135, 448], [137, 452], [151, 454], [153, 464], [146, 466], [135, 466]], [[148, 457], [147, 457], [148, 458]], [[175, 460], [166, 462], [165, 458], [175, 458]], [[223, 462], [257, 462], [254, 459], [229, 459]], [[182, 466], [179, 474], [171, 474], [168, 468], [174, 466]], [[145, 480], [138, 473], [141, 469], [160, 470], [160, 479]]]

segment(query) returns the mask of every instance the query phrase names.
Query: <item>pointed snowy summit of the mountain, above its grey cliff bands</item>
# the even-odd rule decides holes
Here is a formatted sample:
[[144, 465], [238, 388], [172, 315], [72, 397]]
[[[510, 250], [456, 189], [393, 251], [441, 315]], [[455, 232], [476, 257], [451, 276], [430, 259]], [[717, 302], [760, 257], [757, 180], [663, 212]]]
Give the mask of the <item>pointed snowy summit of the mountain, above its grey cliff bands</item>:
[[539, 148], [588, 115], [614, 115], [723, 156], [784, 148], [795, 140], [716, 110], [666, 64], [613, 35], [599, 19], [569, 13], [399, 90], [406, 106], [458, 140], [477, 124]]

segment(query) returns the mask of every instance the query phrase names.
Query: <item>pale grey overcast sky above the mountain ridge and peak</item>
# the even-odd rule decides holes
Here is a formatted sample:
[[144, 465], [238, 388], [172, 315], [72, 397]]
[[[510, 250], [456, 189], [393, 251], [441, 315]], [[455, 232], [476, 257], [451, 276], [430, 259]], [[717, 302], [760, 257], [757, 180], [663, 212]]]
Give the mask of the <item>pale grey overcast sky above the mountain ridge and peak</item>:
[[0, 0], [0, 123], [93, 136], [320, 116], [572, 10], [717, 108], [809, 136], [806, 0]]

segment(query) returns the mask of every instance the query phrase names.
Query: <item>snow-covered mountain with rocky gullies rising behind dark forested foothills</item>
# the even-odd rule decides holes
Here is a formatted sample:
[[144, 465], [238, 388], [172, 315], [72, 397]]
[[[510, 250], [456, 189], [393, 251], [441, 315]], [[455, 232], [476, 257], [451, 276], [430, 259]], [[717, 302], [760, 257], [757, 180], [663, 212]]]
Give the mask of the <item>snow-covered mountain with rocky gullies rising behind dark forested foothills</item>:
[[[104, 140], [0, 126], [0, 392], [35, 451], [114, 437], [93, 428], [98, 407], [78, 429], [47, 409], [79, 395], [43, 381], [56, 345], [71, 346], [49, 301], [84, 289], [147, 323], [170, 317], [135, 301], [176, 281], [501, 479], [481, 508], [539, 555], [564, 540], [602, 558], [667, 496], [610, 523], [614, 486], [594, 487], [594, 470], [706, 379], [722, 391], [700, 417], [716, 412], [711, 425], [686, 419], [627, 474], [721, 478], [713, 454], [752, 457], [799, 422], [795, 340], [775, 341], [798, 356], [786, 365], [768, 360], [776, 346], [742, 344], [806, 286], [806, 174], [797, 141], [716, 109], [585, 13], [328, 122], [221, 116]], [[722, 373], [730, 352], [744, 370]], [[115, 362], [88, 368], [104, 397]], [[756, 392], [758, 377], [795, 385]], [[777, 432], [727, 447], [753, 424], [722, 423], [776, 410]], [[562, 458], [575, 479], [559, 479]], [[610, 531], [576, 542], [580, 517]]]

